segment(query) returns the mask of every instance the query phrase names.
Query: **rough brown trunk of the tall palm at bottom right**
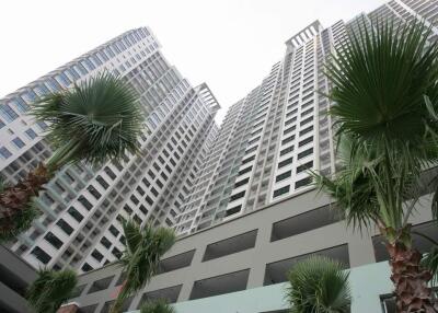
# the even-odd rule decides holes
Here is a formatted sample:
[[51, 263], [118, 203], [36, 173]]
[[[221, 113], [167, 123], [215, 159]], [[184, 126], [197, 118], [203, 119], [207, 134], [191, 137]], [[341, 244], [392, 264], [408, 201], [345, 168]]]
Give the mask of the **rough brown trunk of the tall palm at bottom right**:
[[428, 287], [433, 275], [420, 266], [422, 254], [401, 242], [387, 244], [390, 254], [391, 280], [395, 286], [397, 313], [435, 313], [438, 303]]

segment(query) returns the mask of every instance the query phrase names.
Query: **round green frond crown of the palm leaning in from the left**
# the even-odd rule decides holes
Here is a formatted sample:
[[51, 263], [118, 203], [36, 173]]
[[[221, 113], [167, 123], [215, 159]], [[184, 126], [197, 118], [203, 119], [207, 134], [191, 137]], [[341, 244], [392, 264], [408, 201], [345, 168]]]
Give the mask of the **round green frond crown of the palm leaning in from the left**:
[[108, 73], [43, 97], [31, 113], [48, 123], [47, 139], [58, 148], [48, 164], [101, 163], [137, 152], [143, 119], [137, 100], [129, 85]]

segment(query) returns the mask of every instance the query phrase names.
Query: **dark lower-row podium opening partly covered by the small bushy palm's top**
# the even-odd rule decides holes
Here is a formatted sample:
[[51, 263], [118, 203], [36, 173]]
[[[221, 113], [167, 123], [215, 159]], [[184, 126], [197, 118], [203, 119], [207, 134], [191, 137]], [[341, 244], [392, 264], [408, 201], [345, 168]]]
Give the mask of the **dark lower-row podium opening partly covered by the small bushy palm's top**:
[[293, 265], [311, 255], [327, 256], [341, 262], [344, 265], [344, 268], [349, 268], [348, 245], [343, 244], [267, 264], [263, 286], [287, 281], [287, 274]]

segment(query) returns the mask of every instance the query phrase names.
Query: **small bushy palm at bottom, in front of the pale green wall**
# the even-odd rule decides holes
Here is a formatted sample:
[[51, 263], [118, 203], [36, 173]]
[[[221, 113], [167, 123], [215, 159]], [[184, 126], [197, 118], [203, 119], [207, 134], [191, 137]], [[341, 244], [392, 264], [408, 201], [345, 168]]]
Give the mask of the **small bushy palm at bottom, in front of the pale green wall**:
[[349, 273], [324, 256], [311, 256], [288, 273], [291, 313], [347, 313], [351, 303]]

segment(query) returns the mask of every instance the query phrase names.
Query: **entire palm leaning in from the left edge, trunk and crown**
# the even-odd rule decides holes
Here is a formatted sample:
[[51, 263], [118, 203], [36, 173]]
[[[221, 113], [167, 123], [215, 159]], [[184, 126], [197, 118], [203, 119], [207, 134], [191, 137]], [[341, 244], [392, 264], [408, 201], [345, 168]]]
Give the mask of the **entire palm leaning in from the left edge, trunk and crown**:
[[13, 221], [61, 166], [80, 161], [101, 164], [138, 150], [142, 114], [137, 95], [108, 73], [43, 97], [31, 114], [49, 124], [46, 139], [56, 150], [45, 164], [0, 193], [0, 241], [16, 234]]

